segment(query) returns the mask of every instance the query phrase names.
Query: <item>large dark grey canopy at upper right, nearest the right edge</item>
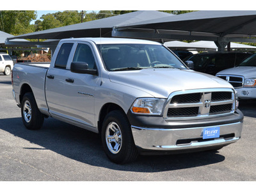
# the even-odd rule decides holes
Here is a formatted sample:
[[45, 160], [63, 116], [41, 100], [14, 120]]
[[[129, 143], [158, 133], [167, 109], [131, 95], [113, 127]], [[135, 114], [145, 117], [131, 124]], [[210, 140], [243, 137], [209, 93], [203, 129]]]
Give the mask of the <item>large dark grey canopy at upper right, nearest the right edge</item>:
[[[136, 31], [137, 29], [138, 31]], [[156, 34], [139, 30], [157, 30]], [[256, 11], [198, 11], [118, 26], [113, 36], [214, 41], [220, 51], [228, 42], [256, 42]]]

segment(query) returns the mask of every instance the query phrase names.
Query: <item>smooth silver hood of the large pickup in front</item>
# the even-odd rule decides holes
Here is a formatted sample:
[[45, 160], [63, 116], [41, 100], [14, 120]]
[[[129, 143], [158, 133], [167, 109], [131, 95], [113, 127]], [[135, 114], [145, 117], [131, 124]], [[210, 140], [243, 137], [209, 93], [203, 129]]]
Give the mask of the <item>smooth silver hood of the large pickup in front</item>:
[[170, 93], [180, 90], [232, 88], [231, 84], [218, 77], [173, 68], [109, 72], [109, 79], [113, 83], [130, 86], [158, 98], [167, 98]]

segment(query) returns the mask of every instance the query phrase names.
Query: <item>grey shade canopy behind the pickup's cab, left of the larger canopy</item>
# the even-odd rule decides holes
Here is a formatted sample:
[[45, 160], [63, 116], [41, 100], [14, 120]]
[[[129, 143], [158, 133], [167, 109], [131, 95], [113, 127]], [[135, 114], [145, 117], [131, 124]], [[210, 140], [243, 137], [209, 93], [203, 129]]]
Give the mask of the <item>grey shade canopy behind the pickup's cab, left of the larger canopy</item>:
[[34, 33], [15, 36], [15, 38], [63, 39], [71, 37], [111, 37], [111, 32], [116, 26], [132, 25], [141, 21], [145, 22], [147, 20], [149, 21], [152, 19], [161, 19], [172, 16], [172, 14], [164, 12], [138, 11], [60, 28], [37, 31]]

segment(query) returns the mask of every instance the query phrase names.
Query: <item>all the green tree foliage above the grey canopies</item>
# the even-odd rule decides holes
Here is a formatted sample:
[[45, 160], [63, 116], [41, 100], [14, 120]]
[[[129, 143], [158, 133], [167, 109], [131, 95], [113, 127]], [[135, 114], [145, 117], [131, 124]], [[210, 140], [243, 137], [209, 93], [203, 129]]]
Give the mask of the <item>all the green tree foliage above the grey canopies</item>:
[[[35, 21], [35, 24], [30, 24], [32, 20], [36, 19], [36, 11], [0, 11], [0, 30], [12, 35], [22, 35], [34, 31], [60, 28], [62, 26], [103, 19], [106, 17], [112, 17], [115, 15], [122, 15], [131, 12], [135, 11], [101, 10], [98, 13], [95, 11], [64, 11], [42, 15], [40, 20]], [[162, 12], [181, 14], [193, 11], [169, 10]]]

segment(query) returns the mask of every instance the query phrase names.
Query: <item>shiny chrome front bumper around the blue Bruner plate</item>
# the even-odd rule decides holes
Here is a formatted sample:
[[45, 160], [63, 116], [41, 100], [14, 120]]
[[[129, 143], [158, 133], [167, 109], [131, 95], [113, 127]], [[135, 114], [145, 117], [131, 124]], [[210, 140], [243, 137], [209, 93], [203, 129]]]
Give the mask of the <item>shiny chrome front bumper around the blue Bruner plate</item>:
[[[218, 125], [220, 138], [202, 140], [204, 128], [193, 127], [185, 129], [157, 129], [131, 126], [136, 147], [143, 150], [188, 150], [192, 148], [221, 147], [234, 143], [241, 137], [243, 122]], [[211, 126], [212, 127], [212, 126]], [[222, 135], [232, 134], [232, 137], [221, 138]], [[198, 140], [199, 139], [199, 140]], [[177, 141], [189, 141], [179, 143]]]

